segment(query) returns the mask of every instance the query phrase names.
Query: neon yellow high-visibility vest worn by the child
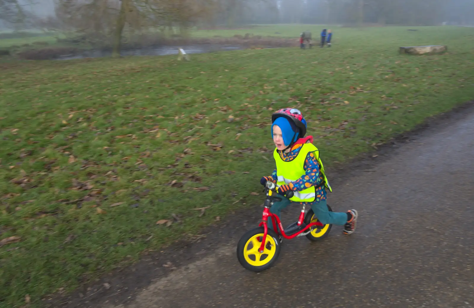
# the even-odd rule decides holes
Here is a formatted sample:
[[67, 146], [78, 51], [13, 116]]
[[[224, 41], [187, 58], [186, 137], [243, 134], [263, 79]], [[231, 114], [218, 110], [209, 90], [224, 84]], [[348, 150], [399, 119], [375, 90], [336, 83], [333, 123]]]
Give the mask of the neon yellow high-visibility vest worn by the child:
[[[329, 186], [328, 179], [324, 174], [324, 167], [319, 159], [319, 150], [316, 146], [306, 143], [301, 146], [301, 150], [298, 155], [290, 162], [285, 162], [281, 158], [280, 154], [275, 149], [273, 151], [273, 158], [275, 159], [276, 163], [276, 174], [277, 174], [277, 184], [284, 185], [290, 182], [296, 181], [301, 178], [303, 175], [306, 174], [304, 170], [304, 162], [306, 160], [306, 156], [308, 153], [313, 152], [316, 159], [319, 163], [319, 172], [323, 175], [324, 178], [324, 186], [332, 191], [331, 187]], [[310, 188], [304, 189], [302, 191], [295, 191], [294, 196], [290, 199], [293, 202], [313, 202], [316, 198], [316, 188], [311, 186]]]

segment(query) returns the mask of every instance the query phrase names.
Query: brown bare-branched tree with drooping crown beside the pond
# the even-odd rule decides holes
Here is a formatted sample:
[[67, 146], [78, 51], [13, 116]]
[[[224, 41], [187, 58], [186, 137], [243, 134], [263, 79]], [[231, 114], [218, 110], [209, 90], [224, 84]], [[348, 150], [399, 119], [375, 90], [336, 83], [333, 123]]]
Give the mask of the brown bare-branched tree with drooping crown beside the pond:
[[[186, 29], [210, 13], [214, 0], [58, 0], [56, 15], [90, 43], [108, 42], [119, 57], [124, 32], [153, 27]], [[184, 31], [184, 30], [183, 30]]]

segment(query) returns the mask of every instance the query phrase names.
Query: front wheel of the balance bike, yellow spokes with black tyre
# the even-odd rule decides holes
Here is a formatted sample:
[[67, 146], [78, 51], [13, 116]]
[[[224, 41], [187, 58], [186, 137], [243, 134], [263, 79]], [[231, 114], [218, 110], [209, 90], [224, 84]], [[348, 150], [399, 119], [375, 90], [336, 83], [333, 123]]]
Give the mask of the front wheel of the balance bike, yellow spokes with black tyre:
[[237, 244], [237, 259], [246, 269], [254, 272], [270, 268], [280, 255], [281, 244], [273, 230], [268, 230], [264, 251], [259, 248], [262, 244], [264, 228], [258, 227], [247, 231]]

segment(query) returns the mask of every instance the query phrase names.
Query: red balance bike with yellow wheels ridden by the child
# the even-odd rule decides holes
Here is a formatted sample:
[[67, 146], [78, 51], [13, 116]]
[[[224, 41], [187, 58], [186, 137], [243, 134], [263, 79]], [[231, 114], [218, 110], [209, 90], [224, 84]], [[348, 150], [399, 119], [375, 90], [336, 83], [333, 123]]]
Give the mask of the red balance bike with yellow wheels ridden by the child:
[[[280, 217], [270, 213], [270, 207], [275, 202], [290, 203], [293, 191], [288, 191], [286, 196], [276, 192], [277, 185], [267, 181], [265, 184], [266, 199], [262, 222], [255, 229], [247, 231], [237, 244], [237, 259], [246, 269], [261, 272], [270, 268], [278, 259], [281, 250], [280, 236], [293, 239], [305, 235], [308, 240], [319, 241], [326, 238], [331, 230], [331, 224], [322, 224], [310, 209], [305, 215], [305, 205], [301, 208], [300, 218], [283, 229]], [[332, 209], [328, 205], [328, 210]], [[268, 228], [269, 218], [273, 230]]]

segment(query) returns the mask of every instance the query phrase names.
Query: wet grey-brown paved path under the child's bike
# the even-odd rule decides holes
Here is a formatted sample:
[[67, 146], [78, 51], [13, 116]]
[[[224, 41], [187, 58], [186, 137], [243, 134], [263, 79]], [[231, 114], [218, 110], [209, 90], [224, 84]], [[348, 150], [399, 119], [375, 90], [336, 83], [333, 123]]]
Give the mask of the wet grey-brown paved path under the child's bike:
[[355, 234], [334, 226], [321, 243], [285, 240], [273, 268], [255, 274], [235, 255], [241, 230], [127, 306], [108, 308], [474, 307], [473, 113], [402, 145], [329, 197], [334, 210], [359, 211]]

